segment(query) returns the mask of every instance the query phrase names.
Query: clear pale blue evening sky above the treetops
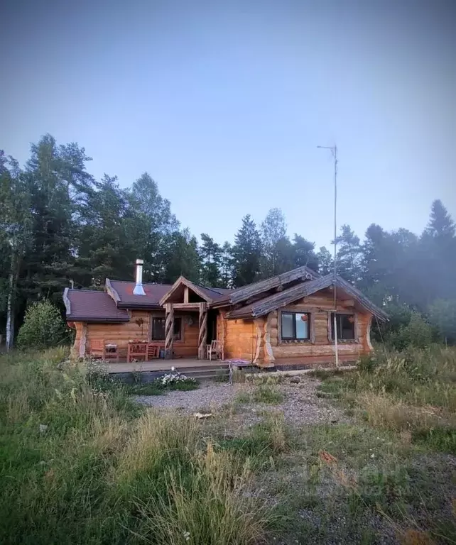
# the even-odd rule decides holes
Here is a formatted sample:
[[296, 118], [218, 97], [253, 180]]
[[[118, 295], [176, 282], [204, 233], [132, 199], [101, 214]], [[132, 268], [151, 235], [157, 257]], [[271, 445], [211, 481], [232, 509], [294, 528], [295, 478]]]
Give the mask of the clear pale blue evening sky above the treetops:
[[456, 219], [452, 0], [23, 1], [0, 7], [0, 148], [45, 133], [87, 170], [156, 180], [181, 224], [233, 241], [279, 207], [316, 246], [337, 226]]

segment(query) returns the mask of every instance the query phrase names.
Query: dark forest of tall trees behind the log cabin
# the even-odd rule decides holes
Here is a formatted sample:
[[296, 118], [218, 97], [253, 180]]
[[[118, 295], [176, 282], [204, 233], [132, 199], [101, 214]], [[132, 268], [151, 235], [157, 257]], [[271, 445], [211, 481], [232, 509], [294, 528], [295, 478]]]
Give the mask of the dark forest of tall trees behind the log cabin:
[[[302, 234], [290, 238], [280, 209], [259, 225], [246, 215], [233, 243], [219, 244], [209, 233], [198, 241], [148, 173], [122, 188], [115, 176], [96, 180], [89, 161], [84, 148], [58, 145], [50, 135], [31, 145], [23, 167], [0, 151], [0, 333], [10, 339], [32, 302], [61, 307], [70, 285], [102, 289], [106, 277], [133, 279], [138, 257], [144, 282], [184, 275], [213, 287], [239, 287], [300, 265], [332, 271], [330, 251]], [[455, 270], [455, 224], [440, 200], [420, 235], [371, 224], [363, 240], [349, 225], [337, 237], [338, 274], [390, 309], [390, 327], [416, 311], [447, 342], [456, 341]]]

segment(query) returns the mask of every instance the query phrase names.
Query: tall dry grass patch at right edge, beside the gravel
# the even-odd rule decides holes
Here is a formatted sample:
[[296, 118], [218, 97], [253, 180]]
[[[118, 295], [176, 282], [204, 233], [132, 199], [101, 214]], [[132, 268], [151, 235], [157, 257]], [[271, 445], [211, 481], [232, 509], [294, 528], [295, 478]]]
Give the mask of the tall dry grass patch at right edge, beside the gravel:
[[412, 441], [456, 452], [455, 382], [456, 349], [433, 346], [379, 351], [322, 389], [354, 403], [373, 426], [407, 431]]

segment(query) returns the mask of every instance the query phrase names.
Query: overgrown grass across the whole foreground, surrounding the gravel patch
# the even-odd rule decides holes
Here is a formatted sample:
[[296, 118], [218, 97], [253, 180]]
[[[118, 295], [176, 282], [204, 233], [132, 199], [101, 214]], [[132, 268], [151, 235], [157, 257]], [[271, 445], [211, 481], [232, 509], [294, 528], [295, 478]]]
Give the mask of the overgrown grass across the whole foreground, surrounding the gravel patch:
[[63, 359], [0, 357], [1, 544], [456, 543], [451, 351], [325, 375], [315, 402], [349, 423], [293, 426], [275, 407], [143, 409], [131, 393], [153, 383]]

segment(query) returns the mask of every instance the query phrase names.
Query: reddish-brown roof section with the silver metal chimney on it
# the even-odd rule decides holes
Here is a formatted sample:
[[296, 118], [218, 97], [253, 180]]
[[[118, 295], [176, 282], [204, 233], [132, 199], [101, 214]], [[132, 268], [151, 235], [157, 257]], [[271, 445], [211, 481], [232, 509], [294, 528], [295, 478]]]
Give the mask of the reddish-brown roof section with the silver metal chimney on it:
[[135, 295], [135, 286], [135, 282], [106, 279], [106, 290], [119, 309], [161, 309], [160, 299], [171, 287], [170, 284], [143, 284], [146, 295]]

